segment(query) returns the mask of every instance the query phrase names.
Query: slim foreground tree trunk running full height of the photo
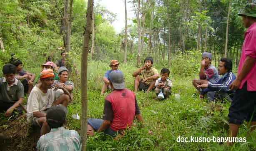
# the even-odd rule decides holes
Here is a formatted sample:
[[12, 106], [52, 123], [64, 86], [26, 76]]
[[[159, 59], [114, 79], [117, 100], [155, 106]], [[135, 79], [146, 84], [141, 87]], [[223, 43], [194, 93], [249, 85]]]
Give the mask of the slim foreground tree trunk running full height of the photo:
[[81, 139], [82, 151], [86, 151], [87, 139], [87, 67], [88, 67], [88, 51], [89, 42], [92, 32], [92, 14], [93, 14], [93, 0], [88, 0], [86, 12], [86, 27], [83, 40], [83, 52], [81, 58], [81, 102], [82, 102], [82, 115], [81, 115]]

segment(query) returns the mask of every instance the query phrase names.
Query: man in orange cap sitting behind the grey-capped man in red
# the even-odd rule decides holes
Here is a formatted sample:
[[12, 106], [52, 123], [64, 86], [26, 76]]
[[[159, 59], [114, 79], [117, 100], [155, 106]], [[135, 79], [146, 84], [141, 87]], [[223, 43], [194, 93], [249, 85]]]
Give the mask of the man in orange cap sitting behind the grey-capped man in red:
[[114, 70], [118, 70], [118, 65], [119, 65], [119, 62], [117, 60], [111, 60], [110, 61], [110, 65], [109, 67], [111, 68], [111, 70], [108, 70], [106, 73], [105, 73], [105, 76], [103, 77], [103, 87], [101, 89], [101, 93], [100, 95], [103, 95], [105, 94], [106, 90], [109, 88], [110, 89], [110, 81], [109, 81], [109, 74], [110, 72], [114, 71]]

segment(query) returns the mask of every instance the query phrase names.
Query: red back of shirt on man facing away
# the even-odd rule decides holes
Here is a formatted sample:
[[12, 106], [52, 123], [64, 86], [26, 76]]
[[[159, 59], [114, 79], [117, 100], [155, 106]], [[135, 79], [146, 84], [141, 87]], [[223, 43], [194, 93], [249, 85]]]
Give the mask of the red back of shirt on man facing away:
[[118, 131], [130, 127], [136, 111], [135, 94], [129, 89], [115, 90], [106, 97], [106, 100], [111, 103], [113, 110], [110, 128]]

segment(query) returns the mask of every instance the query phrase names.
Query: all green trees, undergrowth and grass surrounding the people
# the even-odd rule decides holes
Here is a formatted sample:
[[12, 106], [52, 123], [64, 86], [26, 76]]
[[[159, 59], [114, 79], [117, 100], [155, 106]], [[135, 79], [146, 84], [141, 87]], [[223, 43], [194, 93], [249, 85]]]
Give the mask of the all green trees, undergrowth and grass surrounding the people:
[[[114, 0], [111, 2], [114, 5]], [[116, 14], [100, 2], [94, 7], [88, 57], [88, 117], [102, 116], [104, 97], [99, 94], [111, 59], [121, 63], [125, 84], [133, 90], [132, 72], [143, 64], [145, 57], [152, 56], [158, 72], [163, 67], [171, 69], [173, 94], [180, 94], [181, 99], [171, 97], [159, 102], [153, 100], [153, 92], [146, 97], [139, 92], [139, 106], [146, 126], [134, 128], [119, 142], [99, 134], [88, 140], [88, 150], [226, 150], [226, 146], [217, 143], [177, 143], [176, 137], [227, 136], [230, 103], [219, 103], [223, 110], [212, 111], [205, 101], [192, 97], [196, 90], [191, 80], [198, 76], [201, 52], [204, 51], [213, 54], [215, 67], [221, 57], [232, 59], [233, 71], [236, 72], [246, 31], [237, 13], [247, 2], [255, 1], [127, 2], [132, 3], [136, 18], [128, 18], [132, 24], [120, 33], [111, 25], [116, 20]], [[124, 9], [125, 3], [126, 0]], [[1, 0], [0, 67], [8, 63], [14, 53], [23, 61], [26, 70], [38, 75], [46, 57], [50, 56], [56, 62], [60, 52], [66, 51], [70, 69], [80, 71], [86, 8], [85, 0]], [[120, 24], [125, 25], [125, 22]], [[80, 75], [72, 70], [70, 79], [75, 83], [75, 103], [69, 106], [67, 127], [79, 130], [80, 122], [71, 115], [81, 113]], [[149, 129], [154, 132], [153, 135], [147, 133]], [[246, 136], [247, 130], [248, 126], [244, 124], [240, 136]], [[248, 142], [228, 149], [255, 150], [255, 133], [253, 136], [248, 137]], [[25, 149], [26, 145], [20, 148]]]

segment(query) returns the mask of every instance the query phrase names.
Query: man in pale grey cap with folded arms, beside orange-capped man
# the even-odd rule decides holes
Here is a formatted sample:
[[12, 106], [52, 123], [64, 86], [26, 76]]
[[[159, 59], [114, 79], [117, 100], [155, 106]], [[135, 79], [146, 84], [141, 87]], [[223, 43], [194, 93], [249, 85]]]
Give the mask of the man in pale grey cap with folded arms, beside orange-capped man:
[[58, 70], [58, 76], [60, 77], [59, 80], [55, 80], [53, 85], [58, 85], [58, 86], [62, 86], [65, 89], [68, 90], [68, 92], [71, 95], [71, 98], [73, 98], [72, 96], [72, 91], [74, 89], [74, 83], [71, 81], [68, 81], [68, 69], [66, 67], [60, 67], [60, 69]]

